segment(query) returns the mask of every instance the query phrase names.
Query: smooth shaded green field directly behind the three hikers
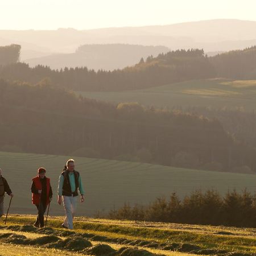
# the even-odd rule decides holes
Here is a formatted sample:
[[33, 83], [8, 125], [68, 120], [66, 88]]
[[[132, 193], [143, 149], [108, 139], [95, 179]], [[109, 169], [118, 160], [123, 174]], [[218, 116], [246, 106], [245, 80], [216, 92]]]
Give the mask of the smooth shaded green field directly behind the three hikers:
[[[36, 170], [46, 167], [51, 178], [54, 198], [50, 214], [64, 214], [63, 206], [56, 203], [57, 180], [65, 161], [70, 156], [39, 155], [0, 152], [0, 168], [15, 194], [10, 213], [36, 213], [31, 204], [31, 179]], [[238, 192], [247, 188], [255, 191], [256, 175], [186, 170], [154, 164], [121, 162], [117, 160], [76, 157], [76, 170], [80, 171], [85, 187], [85, 202], [79, 204], [78, 216], [93, 216], [97, 210], [118, 208], [126, 203], [147, 204], [159, 196], [177, 192], [180, 198], [195, 189], [214, 188], [224, 194], [234, 188]], [[9, 197], [5, 197], [5, 209]]]

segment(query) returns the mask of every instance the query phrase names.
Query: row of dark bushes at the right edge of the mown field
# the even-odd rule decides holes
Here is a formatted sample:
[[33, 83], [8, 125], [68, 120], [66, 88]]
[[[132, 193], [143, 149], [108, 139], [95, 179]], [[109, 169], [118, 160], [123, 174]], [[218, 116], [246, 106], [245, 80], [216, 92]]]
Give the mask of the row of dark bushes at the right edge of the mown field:
[[256, 195], [247, 191], [229, 191], [224, 197], [217, 191], [195, 191], [180, 200], [172, 193], [151, 204], [125, 204], [98, 216], [117, 220], [142, 220], [182, 224], [224, 225], [256, 228]]

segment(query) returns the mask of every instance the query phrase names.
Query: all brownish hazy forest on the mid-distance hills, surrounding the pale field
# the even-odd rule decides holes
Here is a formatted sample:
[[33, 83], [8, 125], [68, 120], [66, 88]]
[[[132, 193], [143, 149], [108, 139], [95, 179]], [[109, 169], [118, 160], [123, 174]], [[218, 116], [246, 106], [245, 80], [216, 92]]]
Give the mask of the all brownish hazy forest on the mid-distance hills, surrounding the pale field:
[[[17, 49], [13, 46], [12, 54]], [[72, 92], [137, 89], [213, 77], [225, 70], [217, 68], [216, 61], [221, 59], [230, 61], [223, 75], [242, 79], [255, 67], [256, 59], [251, 57], [248, 68], [237, 77], [235, 70], [248, 52], [254, 56], [256, 48], [215, 57], [207, 57], [200, 49], [172, 51], [113, 72], [94, 72], [85, 67], [60, 71], [43, 66], [30, 68], [16, 58], [0, 66], [0, 149], [254, 173], [254, 113], [156, 109], [136, 102], [115, 105], [77, 97]], [[237, 125], [239, 130], [234, 129]]]

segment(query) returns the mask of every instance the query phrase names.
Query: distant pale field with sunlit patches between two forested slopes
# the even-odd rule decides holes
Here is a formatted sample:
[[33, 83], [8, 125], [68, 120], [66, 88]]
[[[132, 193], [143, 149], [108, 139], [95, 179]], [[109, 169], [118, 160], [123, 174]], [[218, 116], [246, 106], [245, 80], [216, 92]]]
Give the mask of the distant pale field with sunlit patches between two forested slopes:
[[210, 106], [256, 109], [256, 80], [205, 79], [126, 92], [76, 92], [108, 102], [138, 102], [144, 106]]

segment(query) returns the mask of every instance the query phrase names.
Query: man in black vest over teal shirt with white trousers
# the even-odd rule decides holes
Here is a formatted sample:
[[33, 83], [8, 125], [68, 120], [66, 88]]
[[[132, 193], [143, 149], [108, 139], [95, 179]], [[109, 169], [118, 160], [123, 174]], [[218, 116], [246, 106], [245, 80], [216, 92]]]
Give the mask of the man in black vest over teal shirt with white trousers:
[[78, 190], [81, 196], [81, 203], [84, 202], [84, 188], [82, 186], [81, 176], [75, 171], [75, 161], [69, 159], [67, 165], [59, 177], [58, 184], [58, 204], [63, 205], [65, 209], [65, 220], [62, 224], [63, 228], [73, 229], [73, 217], [77, 207]]

